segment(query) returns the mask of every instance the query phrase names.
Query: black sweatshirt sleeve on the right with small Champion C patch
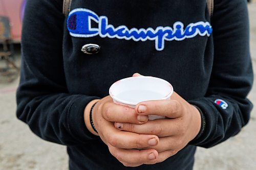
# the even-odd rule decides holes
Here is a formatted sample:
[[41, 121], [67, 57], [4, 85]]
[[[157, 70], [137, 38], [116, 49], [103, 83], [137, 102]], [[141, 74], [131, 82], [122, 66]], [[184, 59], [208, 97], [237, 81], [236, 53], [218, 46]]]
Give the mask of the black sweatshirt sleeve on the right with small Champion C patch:
[[188, 101], [199, 108], [202, 127], [189, 144], [212, 147], [236, 135], [252, 109], [246, 98], [253, 82], [245, 0], [216, 0], [212, 16], [214, 64], [204, 98]]

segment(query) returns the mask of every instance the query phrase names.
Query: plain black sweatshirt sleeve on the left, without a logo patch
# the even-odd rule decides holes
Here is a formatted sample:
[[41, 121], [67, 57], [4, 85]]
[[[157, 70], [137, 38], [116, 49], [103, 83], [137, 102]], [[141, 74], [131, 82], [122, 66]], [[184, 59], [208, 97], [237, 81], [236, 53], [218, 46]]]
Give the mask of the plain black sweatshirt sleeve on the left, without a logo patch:
[[94, 138], [83, 111], [96, 97], [68, 92], [62, 59], [64, 19], [62, 1], [27, 1], [16, 114], [42, 139], [74, 145]]

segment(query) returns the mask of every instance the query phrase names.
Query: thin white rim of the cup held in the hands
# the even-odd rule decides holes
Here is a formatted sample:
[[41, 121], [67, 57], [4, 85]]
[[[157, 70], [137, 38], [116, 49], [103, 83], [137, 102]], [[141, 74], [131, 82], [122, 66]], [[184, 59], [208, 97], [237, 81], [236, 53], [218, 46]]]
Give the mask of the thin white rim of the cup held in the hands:
[[113, 87], [114, 87], [117, 83], [119, 83], [120, 81], [126, 81], [126, 80], [129, 80], [129, 79], [148, 79], [148, 78], [150, 78], [150, 79], [152, 79], [152, 78], [153, 78], [153, 79], [158, 79], [159, 81], [162, 81], [162, 82], [166, 83], [166, 84], [170, 87], [170, 91], [168, 92], [168, 94], [165, 95], [164, 98], [161, 98], [161, 99], [159, 99], [159, 100], [166, 100], [166, 99], [170, 98], [170, 96], [171, 96], [171, 95], [173, 94], [173, 92], [174, 92], [174, 88], [173, 88], [172, 84], [170, 84], [169, 82], [167, 82], [167, 81], [164, 80], [164, 79], [157, 78], [157, 77], [152, 77], [152, 76], [129, 77], [129, 78], [124, 78], [124, 79], [118, 80], [118, 81], [116, 81], [115, 83], [113, 83], [113, 84], [111, 85], [111, 87], [110, 87], [110, 89], [109, 89], [109, 94], [110, 94], [111, 98], [112, 98], [114, 101], [118, 102], [118, 103], [123, 103], [123, 104], [127, 104], [127, 105], [134, 105], [134, 106], [136, 106], [138, 103], [135, 103], [135, 102], [128, 102], [128, 101], [124, 101], [124, 100], [121, 100], [121, 99], [116, 98], [116, 96], [113, 95], [113, 93], [112, 93], [112, 91], [113, 91], [112, 89], [113, 89]]

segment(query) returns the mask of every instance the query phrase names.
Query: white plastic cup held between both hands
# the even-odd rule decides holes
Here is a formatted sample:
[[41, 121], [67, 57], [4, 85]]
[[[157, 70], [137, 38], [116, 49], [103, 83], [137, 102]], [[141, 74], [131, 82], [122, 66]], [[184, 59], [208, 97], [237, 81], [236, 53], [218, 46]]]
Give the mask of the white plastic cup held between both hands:
[[[131, 108], [144, 101], [169, 100], [173, 92], [173, 86], [169, 82], [150, 76], [125, 78], [112, 84], [109, 89], [114, 103]], [[164, 117], [149, 115], [148, 119]]]

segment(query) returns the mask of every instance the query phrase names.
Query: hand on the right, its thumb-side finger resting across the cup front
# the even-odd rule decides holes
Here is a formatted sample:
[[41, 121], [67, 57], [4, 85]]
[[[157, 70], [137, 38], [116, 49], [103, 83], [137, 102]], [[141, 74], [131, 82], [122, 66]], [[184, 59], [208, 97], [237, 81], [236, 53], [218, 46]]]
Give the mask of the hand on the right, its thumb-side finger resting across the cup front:
[[141, 102], [136, 105], [135, 110], [138, 115], [166, 116], [165, 119], [148, 120], [142, 125], [115, 123], [115, 127], [122, 131], [159, 136], [160, 140], [156, 146], [145, 148], [158, 151], [157, 162], [162, 162], [183, 149], [197, 136], [201, 128], [201, 115], [197, 108], [176, 92], [170, 100]]

